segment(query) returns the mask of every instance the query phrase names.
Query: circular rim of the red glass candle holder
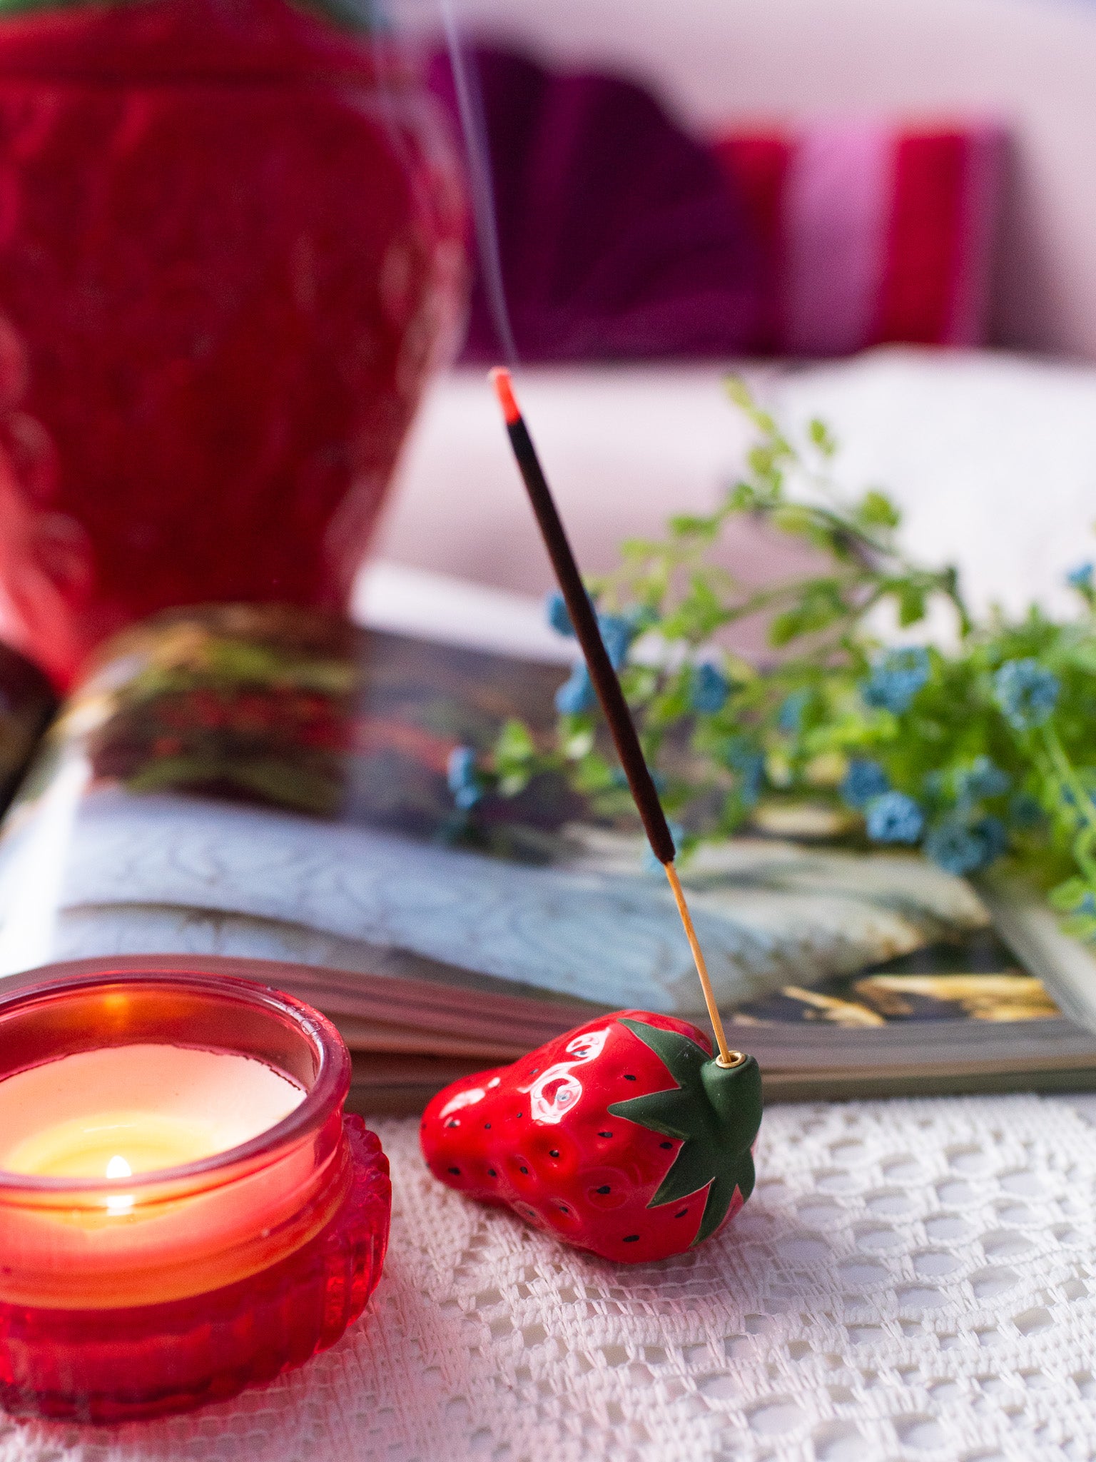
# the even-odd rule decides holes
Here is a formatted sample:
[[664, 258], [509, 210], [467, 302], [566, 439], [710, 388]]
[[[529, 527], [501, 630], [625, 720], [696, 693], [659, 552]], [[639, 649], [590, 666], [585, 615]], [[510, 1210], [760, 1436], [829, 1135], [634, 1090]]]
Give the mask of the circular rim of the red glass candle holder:
[[[153, 1168], [151, 1173], [140, 1173], [127, 1177], [124, 1187], [127, 1193], [148, 1192], [151, 1189], [171, 1184], [184, 1184], [190, 1178], [203, 1178], [224, 1170], [224, 1177], [231, 1181], [231, 1170], [244, 1165], [247, 1171], [251, 1159], [266, 1158], [267, 1164], [276, 1161], [283, 1154], [297, 1148], [304, 1139], [314, 1136], [332, 1113], [339, 1111], [346, 1099], [351, 1085], [351, 1057], [346, 1045], [332, 1022], [313, 1010], [311, 1006], [272, 985], [263, 985], [254, 980], [244, 980], [238, 975], [215, 975], [194, 969], [156, 969], [155, 956], [149, 961], [148, 972], [132, 968], [117, 968], [104, 962], [102, 972], [88, 975], [60, 975], [44, 978], [34, 984], [20, 982], [10, 994], [0, 994], [0, 1026], [4, 1018], [34, 1004], [48, 1004], [63, 1000], [66, 994], [86, 993], [91, 990], [133, 988], [133, 985], [161, 987], [164, 990], [186, 990], [191, 994], [206, 994], [210, 999], [229, 1001], [253, 1010], [269, 1012], [273, 1016], [288, 1018], [289, 1025], [307, 1041], [317, 1060], [316, 1077], [305, 1091], [304, 1101], [295, 1107], [288, 1117], [283, 1117], [273, 1127], [260, 1132], [257, 1136], [240, 1143], [235, 1148], [225, 1148], [208, 1158], [196, 1162], [180, 1164], [174, 1168]], [[113, 1045], [136, 1042], [107, 1042]], [[168, 1044], [183, 1044], [172, 1041]], [[199, 1050], [231, 1050], [227, 1045], [202, 1045]], [[89, 1042], [86, 1050], [98, 1050]], [[58, 1053], [60, 1054], [60, 1053]], [[70, 1054], [70, 1053], [66, 1053]], [[251, 1054], [251, 1053], [243, 1053]], [[35, 1061], [35, 1066], [45, 1064]], [[26, 1069], [26, 1067], [23, 1067]], [[15, 1073], [12, 1073], [15, 1075]], [[267, 1165], [265, 1164], [265, 1165]], [[104, 1178], [58, 1178], [39, 1177], [37, 1174], [10, 1173], [0, 1168], [0, 1199], [3, 1194], [38, 1193], [38, 1194], [96, 1194], [110, 1193], [117, 1184], [107, 1184]]]

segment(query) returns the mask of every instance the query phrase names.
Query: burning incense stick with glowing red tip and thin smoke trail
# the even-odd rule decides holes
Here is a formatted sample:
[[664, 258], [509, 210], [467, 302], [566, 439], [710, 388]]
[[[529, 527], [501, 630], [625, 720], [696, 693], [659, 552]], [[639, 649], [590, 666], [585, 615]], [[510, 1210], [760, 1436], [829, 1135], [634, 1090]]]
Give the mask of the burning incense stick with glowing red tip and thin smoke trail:
[[501, 367], [492, 370], [491, 385], [494, 386], [498, 404], [503, 408], [510, 446], [513, 447], [517, 466], [522, 472], [522, 480], [525, 481], [526, 491], [529, 493], [529, 501], [532, 503], [533, 513], [541, 529], [541, 537], [548, 548], [548, 557], [552, 561], [555, 577], [560, 582], [563, 599], [567, 605], [567, 613], [571, 617], [571, 624], [574, 626], [574, 635], [582, 646], [583, 655], [586, 656], [586, 667], [590, 673], [593, 689], [598, 692], [601, 708], [605, 712], [605, 719], [617, 747], [617, 756], [620, 756], [624, 775], [627, 776], [628, 787], [631, 788], [631, 795], [636, 800], [636, 807], [639, 808], [640, 819], [643, 820], [647, 842], [650, 844], [655, 857], [666, 870], [666, 877], [669, 879], [669, 886], [674, 892], [674, 902], [678, 906], [681, 923], [685, 927], [688, 947], [693, 950], [697, 975], [700, 977], [700, 987], [704, 991], [704, 1004], [707, 1006], [707, 1013], [712, 1020], [712, 1029], [716, 1034], [716, 1044], [719, 1045], [719, 1064], [738, 1066], [745, 1060], [745, 1057], [739, 1051], [732, 1051], [726, 1041], [723, 1020], [719, 1015], [719, 1006], [716, 1004], [716, 997], [712, 990], [712, 981], [707, 975], [704, 955], [697, 940], [693, 917], [688, 912], [688, 905], [685, 904], [685, 893], [681, 887], [681, 880], [678, 879], [678, 870], [674, 866], [674, 858], [677, 857], [674, 835], [666, 825], [666, 814], [662, 811], [659, 794], [655, 789], [655, 782], [643, 757], [643, 749], [640, 747], [639, 737], [636, 735], [636, 724], [631, 719], [631, 712], [628, 711], [628, 703], [624, 699], [624, 692], [620, 687], [617, 671], [612, 668], [612, 662], [605, 649], [605, 642], [601, 637], [598, 616], [593, 613], [590, 596], [586, 594], [586, 586], [582, 582], [579, 566], [574, 561], [571, 545], [567, 541], [567, 532], [555, 507], [541, 461], [536, 456], [533, 439], [529, 436], [525, 418], [517, 409], [510, 371], [503, 370]]

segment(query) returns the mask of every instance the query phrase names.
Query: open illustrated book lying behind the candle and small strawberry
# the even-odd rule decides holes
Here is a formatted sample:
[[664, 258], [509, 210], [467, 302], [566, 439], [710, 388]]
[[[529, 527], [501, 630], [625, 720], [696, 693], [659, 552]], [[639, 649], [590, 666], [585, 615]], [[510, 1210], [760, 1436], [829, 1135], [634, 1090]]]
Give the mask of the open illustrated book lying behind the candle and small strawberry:
[[[454, 806], [453, 749], [513, 715], [549, 727], [563, 675], [221, 605], [117, 637], [44, 735], [23, 684], [7, 740], [34, 754], [0, 836], [0, 975], [228, 961], [335, 1019], [374, 1111], [599, 1010], [703, 1025], [637, 826], [595, 822], [551, 778]], [[701, 849], [682, 880], [770, 1098], [1096, 1085], [1096, 962], [1023, 890], [761, 832]]]

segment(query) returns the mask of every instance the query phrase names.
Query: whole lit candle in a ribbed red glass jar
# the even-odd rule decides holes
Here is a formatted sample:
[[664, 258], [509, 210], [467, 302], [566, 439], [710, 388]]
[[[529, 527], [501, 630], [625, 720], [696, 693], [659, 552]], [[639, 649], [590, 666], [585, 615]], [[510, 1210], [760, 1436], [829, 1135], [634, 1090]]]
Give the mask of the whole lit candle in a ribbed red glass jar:
[[[247, 980], [104, 962], [0, 1001], [3, 1406], [181, 1411], [332, 1345], [392, 1194], [348, 1088], [335, 1028]], [[222, 1149], [240, 1123], [260, 1130]]]

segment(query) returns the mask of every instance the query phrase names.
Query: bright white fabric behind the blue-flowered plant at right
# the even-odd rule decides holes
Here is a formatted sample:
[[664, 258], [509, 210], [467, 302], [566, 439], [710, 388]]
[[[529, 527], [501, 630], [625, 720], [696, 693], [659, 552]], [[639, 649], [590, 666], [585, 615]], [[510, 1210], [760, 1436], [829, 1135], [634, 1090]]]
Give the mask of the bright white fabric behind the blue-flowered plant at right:
[[979, 611], [1077, 613], [1064, 575], [1096, 558], [1096, 368], [880, 349], [783, 377], [775, 404], [831, 424], [842, 485], [891, 491], [906, 550], [957, 563]]

